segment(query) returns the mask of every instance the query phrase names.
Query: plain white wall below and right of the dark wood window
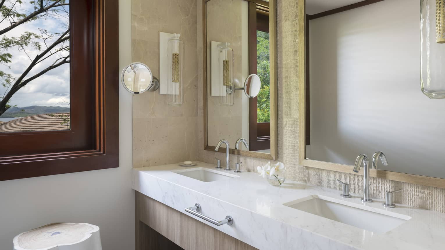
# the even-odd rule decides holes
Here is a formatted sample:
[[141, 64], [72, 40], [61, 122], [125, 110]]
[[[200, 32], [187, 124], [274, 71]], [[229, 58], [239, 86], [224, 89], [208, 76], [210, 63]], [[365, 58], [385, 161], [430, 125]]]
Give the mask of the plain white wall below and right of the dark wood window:
[[[120, 67], [131, 61], [131, 1], [119, 0]], [[0, 249], [17, 234], [51, 222], [101, 228], [104, 250], [134, 249], [131, 94], [119, 89], [120, 167], [0, 182]]]

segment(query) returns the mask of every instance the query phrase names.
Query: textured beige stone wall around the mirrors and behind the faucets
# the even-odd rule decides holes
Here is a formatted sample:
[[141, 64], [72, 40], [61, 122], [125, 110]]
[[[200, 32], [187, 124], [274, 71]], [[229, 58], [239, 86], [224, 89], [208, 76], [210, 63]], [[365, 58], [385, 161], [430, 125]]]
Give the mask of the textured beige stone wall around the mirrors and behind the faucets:
[[[321, 187], [341, 190], [336, 179], [350, 183], [351, 192], [360, 194], [363, 177], [299, 165], [298, 155], [298, 70], [303, 65], [295, 63], [298, 58], [298, 13], [295, 11], [301, 0], [277, 0], [277, 59], [278, 59], [278, 160], [287, 166], [286, 178]], [[202, 0], [197, 0], [198, 12], [198, 59], [202, 58]], [[304, 18], [304, 17], [301, 17]], [[198, 91], [202, 93], [202, 61], [198, 60]], [[214, 157], [224, 158], [224, 154], [204, 151], [202, 142], [203, 112], [202, 95], [198, 95], [198, 159], [214, 163]], [[267, 160], [231, 155], [232, 164], [243, 162], [244, 171], [256, 171]], [[232, 167], [233, 168], [233, 167]], [[352, 171], [352, 170], [351, 170]], [[384, 198], [384, 191], [403, 188], [395, 195], [398, 203], [406, 206], [445, 212], [445, 189], [371, 178], [371, 197]]]

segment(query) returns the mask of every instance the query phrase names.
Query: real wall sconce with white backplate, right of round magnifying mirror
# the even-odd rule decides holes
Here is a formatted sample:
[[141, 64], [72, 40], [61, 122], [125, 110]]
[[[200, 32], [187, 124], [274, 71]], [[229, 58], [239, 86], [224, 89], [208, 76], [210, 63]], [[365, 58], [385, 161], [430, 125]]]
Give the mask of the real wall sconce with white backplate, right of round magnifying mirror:
[[167, 95], [167, 104], [180, 106], [184, 101], [184, 42], [180, 34], [159, 32], [159, 94]]

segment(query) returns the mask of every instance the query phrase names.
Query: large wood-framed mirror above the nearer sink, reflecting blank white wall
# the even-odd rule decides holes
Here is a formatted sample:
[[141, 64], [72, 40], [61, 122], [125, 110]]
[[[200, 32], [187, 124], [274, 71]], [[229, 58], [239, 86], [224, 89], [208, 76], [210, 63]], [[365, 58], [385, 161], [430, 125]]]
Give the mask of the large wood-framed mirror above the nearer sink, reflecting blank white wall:
[[371, 176], [445, 187], [445, 99], [421, 91], [420, 8], [306, 0], [302, 165], [353, 173], [359, 154], [382, 151], [388, 165], [376, 162]]

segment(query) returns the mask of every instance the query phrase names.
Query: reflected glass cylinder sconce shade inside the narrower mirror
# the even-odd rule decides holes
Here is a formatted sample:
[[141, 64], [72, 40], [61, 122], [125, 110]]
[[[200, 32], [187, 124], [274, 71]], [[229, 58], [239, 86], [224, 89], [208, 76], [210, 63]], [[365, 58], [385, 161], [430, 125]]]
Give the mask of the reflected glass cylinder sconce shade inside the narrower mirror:
[[234, 55], [233, 49], [228, 47], [229, 44], [223, 43], [218, 45], [218, 62], [219, 62], [219, 80], [218, 84], [223, 93], [219, 98], [221, 106], [232, 106], [235, 103], [235, 84], [233, 76]]

